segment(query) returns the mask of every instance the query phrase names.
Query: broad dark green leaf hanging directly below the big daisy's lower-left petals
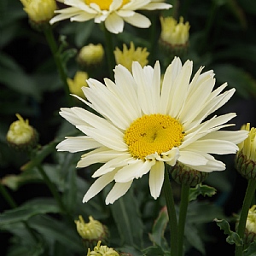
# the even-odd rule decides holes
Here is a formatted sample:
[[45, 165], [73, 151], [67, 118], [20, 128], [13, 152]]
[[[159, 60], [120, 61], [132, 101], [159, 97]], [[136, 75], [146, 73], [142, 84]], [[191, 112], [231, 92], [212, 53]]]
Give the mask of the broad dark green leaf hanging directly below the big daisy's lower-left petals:
[[113, 219], [119, 230], [121, 243], [142, 247], [143, 222], [131, 189], [110, 206]]

